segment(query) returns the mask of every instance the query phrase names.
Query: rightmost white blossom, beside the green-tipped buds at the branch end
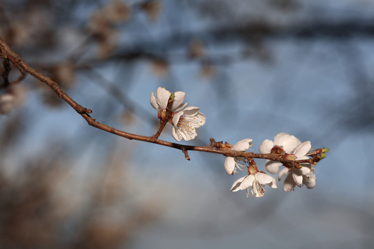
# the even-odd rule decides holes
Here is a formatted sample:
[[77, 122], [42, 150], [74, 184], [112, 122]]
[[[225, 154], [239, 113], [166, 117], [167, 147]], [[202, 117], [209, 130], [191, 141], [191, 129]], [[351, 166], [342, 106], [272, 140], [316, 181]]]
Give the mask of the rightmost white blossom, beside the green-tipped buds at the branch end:
[[[293, 153], [294, 159], [303, 160], [308, 159], [308, 156], [305, 156], [310, 151], [310, 141], [302, 142], [298, 145]], [[301, 168], [287, 168], [282, 169], [278, 174], [278, 180], [281, 181], [281, 178], [288, 173], [285, 178], [285, 183], [283, 189], [286, 192], [289, 192], [294, 189], [296, 185], [301, 187], [301, 184], [305, 184], [308, 188], [313, 188], [316, 185], [316, 177], [314, 175], [314, 165], [309, 163], [301, 163]]]

